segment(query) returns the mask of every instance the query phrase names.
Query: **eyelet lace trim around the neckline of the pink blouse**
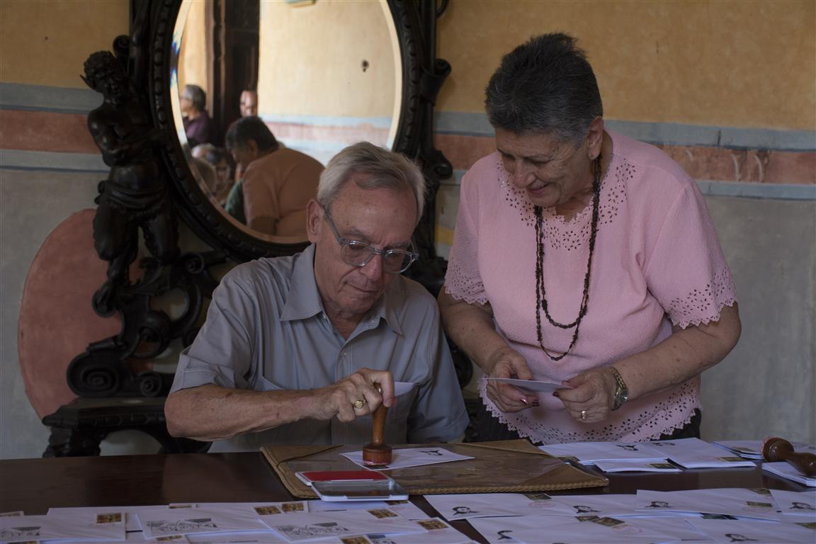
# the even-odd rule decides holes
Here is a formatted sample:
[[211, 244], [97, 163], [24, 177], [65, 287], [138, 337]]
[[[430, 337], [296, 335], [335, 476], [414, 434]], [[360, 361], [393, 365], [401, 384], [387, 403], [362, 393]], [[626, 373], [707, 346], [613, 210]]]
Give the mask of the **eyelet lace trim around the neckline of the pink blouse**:
[[[527, 201], [523, 190], [510, 183], [509, 174], [504, 170], [502, 161], [496, 161], [496, 170], [499, 175], [499, 184], [504, 192], [504, 200], [512, 208], [516, 208], [521, 220], [528, 227], [535, 222], [533, 205]], [[598, 206], [598, 224], [605, 225], [614, 222], [618, 216], [618, 207], [626, 200], [626, 182], [635, 176], [636, 168], [628, 161], [617, 155], [612, 155], [610, 170], [601, 179], [601, 204]], [[592, 201], [570, 221], [565, 221], [562, 215], [557, 215], [555, 207], [543, 209], [544, 232], [546, 243], [554, 250], [577, 250], [589, 241], [592, 223]]]

